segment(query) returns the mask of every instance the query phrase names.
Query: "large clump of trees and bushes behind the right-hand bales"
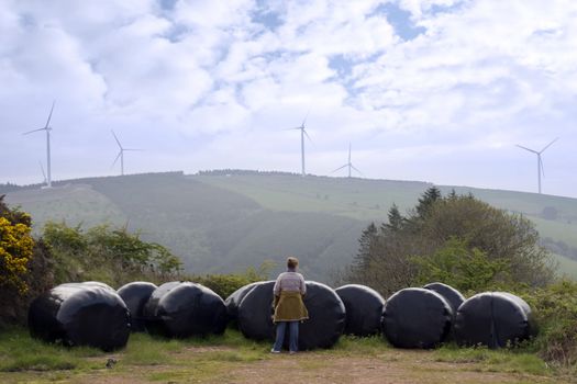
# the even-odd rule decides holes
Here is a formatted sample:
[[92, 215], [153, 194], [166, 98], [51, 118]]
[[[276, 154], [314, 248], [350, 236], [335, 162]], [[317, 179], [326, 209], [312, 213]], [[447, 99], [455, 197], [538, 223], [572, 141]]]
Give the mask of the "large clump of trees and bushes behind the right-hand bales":
[[432, 281], [464, 291], [544, 286], [555, 275], [532, 222], [471, 194], [443, 196], [435, 187], [404, 215], [393, 204], [388, 222], [368, 225], [358, 242], [341, 279], [384, 295]]

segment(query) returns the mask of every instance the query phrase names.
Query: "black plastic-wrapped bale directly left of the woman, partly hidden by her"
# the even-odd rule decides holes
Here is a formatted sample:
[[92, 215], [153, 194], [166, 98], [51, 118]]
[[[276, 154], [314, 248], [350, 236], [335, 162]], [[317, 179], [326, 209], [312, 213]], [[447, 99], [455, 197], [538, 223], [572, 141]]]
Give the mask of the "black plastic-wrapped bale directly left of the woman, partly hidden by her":
[[253, 340], [274, 340], [273, 287], [274, 281], [256, 284], [238, 305], [238, 329]]

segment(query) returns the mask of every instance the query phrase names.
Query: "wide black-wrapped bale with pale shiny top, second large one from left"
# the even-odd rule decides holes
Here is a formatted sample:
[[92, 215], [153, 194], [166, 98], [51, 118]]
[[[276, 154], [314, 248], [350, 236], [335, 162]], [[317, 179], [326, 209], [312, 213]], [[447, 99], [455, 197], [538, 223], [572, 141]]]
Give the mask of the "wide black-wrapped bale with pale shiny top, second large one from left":
[[169, 282], [156, 289], [144, 307], [146, 329], [167, 337], [222, 334], [226, 306], [210, 289], [190, 282]]

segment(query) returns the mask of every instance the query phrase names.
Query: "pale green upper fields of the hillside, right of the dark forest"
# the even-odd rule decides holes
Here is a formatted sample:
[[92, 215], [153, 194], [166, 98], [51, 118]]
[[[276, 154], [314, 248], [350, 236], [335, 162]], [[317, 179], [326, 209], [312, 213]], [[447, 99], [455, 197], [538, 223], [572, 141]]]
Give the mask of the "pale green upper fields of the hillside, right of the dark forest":
[[[401, 212], [414, 206], [432, 184], [424, 182], [307, 177], [278, 173], [200, 174], [189, 177], [214, 187], [242, 193], [275, 211], [324, 212], [359, 221], [386, 221], [396, 203]], [[577, 199], [536, 193], [439, 185], [443, 193], [473, 193], [496, 207], [522, 213], [533, 221], [543, 237], [577, 247]], [[555, 219], [542, 217], [555, 208]]]

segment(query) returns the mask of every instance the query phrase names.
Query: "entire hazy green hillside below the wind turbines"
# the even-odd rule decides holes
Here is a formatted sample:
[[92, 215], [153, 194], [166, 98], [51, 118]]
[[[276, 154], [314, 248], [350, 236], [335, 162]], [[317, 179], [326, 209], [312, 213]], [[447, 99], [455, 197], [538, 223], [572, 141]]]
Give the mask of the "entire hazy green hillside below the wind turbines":
[[[89, 178], [7, 193], [35, 221], [92, 226], [126, 225], [179, 255], [193, 273], [231, 272], [266, 259], [301, 258], [311, 279], [328, 280], [347, 264], [370, 222], [386, 221], [396, 203], [414, 206], [424, 182], [224, 171]], [[441, 187], [448, 193], [453, 187]], [[543, 237], [577, 247], [577, 200], [532, 193], [454, 188], [491, 205], [528, 215]], [[554, 219], [543, 211], [553, 207]], [[550, 217], [551, 218], [551, 217]], [[563, 248], [565, 249], [565, 248]], [[564, 250], [561, 250], [563, 253]], [[565, 251], [567, 253], [567, 251]], [[564, 273], [577, 276], [577, 261], [558, 256]], [[280, 268], [280, 267], [279, 267]], [[276, 271], [274, 271], [276, 272]]]

